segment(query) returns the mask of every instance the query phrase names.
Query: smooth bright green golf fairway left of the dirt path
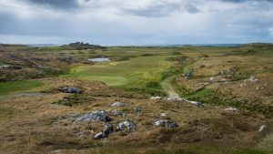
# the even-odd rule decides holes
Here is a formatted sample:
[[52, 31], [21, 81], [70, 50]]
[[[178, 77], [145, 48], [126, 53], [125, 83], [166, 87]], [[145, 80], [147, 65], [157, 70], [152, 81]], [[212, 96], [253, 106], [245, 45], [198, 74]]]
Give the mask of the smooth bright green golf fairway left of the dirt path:
[[102, 62], [93, 66], [77, 66], [63, 77], [97, 80], [111, 87], [143, 87], [160, 82], [162, 73], [172, 67], [168, 56], [138, 56], [123, 62]]

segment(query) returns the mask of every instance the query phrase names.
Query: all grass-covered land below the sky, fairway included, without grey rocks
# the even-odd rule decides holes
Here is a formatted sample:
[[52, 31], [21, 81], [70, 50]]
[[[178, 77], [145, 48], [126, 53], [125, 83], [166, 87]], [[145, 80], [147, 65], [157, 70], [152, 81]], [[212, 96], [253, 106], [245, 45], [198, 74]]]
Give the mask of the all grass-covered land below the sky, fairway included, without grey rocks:
[[[49, 58], [49, 63], [35, 62], [35, 65], [60, 68], [63, 75], [0, 83], [0, 153], [18, 153], [19, 150], [21, 153], [53, 154], [273, 152], [270, 46], [111, 46], [106, 50], [9, 46], [2, 62], [29, 67], [25, 59], [6, 58], [10, 51], [26, 56], [26, 61], [30, 53]], [[57, 60], [69, 56], [77, 62]], [[112, 61], [96, 64], [87, 61], [100, 56], [110, 57]], [[236, 72], [218, 75], [219, 71], [227, 69]], [[187, 72], [193, 77], [185, 78]], [[250, 76], [257, 76], [258, 82], [246, 82], [247, 87], [240, 87]], [[215, 79], [209, 81], [209, 77]], [[223, 78], [227, 83], [221, 81]], [[200, 83], [208, 85], [195, 89]], [[62, 87], [79, 87], [84, 93], [66, 94]], [[43, 91], [43, 95], [22, 97], [16, 94], [32, 91]], [[164, 96], [169, 92], [200, 101], [205, 106], [148, 99], [149, 94]], [[116, 101], [128, 106], [111, 107]], [[227, 112], [224, 110], [227, 106], [239, 111]], [[136, 112], [135, 108], [142, 110]], [[117, 131], [107, 139], [96, 140], [93, 137], [104, 128], [105, 122], [87, 121], [77, 125], [63, 121], [67, 116], [100, 109], [125, 112], [126, 116], [111, 116], [110, 123], [117, 125], [130, 119], [136, 123], [136, 131]], [[167, 114], [166, 119], [177, 122], [178, 128], [156, 127], [155, 121], [164, 118], [162, 113]], [[267, 126], [265, 130], [258, 131], [263, 125]]]

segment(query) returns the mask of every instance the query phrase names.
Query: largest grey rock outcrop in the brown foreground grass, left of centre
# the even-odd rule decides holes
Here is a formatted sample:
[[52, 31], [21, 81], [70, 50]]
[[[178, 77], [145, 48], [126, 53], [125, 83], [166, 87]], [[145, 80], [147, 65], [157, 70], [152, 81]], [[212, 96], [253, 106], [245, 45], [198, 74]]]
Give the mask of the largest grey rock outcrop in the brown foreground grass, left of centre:
[[91, 113], [87, 113], [84, 116], [76, 118], [74, 123], [85, 122], [87, 120], [91, 120], [91, 121], [111, 121], [112, 119], [107, 116], [106, 110], [99, 110], [99, 111], [94, 111], [94, 112], [91, 112]]

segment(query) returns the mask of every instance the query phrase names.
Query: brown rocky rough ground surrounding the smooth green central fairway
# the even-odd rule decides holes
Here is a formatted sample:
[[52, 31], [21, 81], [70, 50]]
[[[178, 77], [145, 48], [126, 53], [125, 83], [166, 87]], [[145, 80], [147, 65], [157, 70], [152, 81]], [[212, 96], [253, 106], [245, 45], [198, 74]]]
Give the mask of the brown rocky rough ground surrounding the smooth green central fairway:
[[[166, 92], [156, 93], [60, 77], [71, 67], [94, 65], [82, 53], [75, 56], [77, 50], [66, 55], [66, 50], [5, 47], [4, 51], [0, 46], [0, 84], [12, 83], [0, 87], [0, 153], [273, 151], [273, 69], [271, 63], [260, 62], [269, 57], [252, 50], [251, 55], [248, 50], [234, 50], [207, 56], [206, 47], [204, 53], [194, 49], [186, 56], [183, 48], [185, 55], [175, 53], [166, 59], [174, 67], [161, 83], [146, 87], [159, 86]], [[268, 54], [270, 46], [262, 49]], [[81, 48], [80, 52], [101, 54], [106, 49], [99, 50]], [[257, 64], [253, 56], [259, 57]], [[238, 65], [240, 59], [248, 63]], [[42, 86], [25, 91], [16, 87], [19, 90], [13, 92], [18, 80], [33, 78]]]

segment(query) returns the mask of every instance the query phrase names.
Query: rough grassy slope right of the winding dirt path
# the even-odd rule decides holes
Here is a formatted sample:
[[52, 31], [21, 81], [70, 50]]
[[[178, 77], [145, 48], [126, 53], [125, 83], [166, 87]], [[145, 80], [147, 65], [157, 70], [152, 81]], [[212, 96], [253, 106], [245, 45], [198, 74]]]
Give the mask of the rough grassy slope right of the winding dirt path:
[[[270, 114], [270, 112], [272, 112], [272, 107], [268, 105], [261, 107], [263, 103], [258, 103], [258, 100], [256, 100], [256, 98], [263, 98], [262, 96], [265, 95], [263, 92], [258, 92], [258, 86], [262, 85], [262, 83], [266, 85], [270, 85], [271, 83], [268, 80], [268, 76], [272, 76], [272, 74], [270, 74], [272, 69], [272, 48], [271, 50], [269, 48], [260, 46], [241, 46], [238, 48], [229, 48], [229, 52], [225, 49], [218, 48], [218, 51], [222, 50], [218, 54], [216, 54], [215, 51], [207, 51], [209, 56], [204, 56], [198, 63], [184, 67], [184, 70], [187, 71], [195, 70], [193, 72], [194, 77], [187, 80], [182, 79], [183, 77], [180, 76], [178, 78], [181, 79], [181, 85], [177, 87], [177, 81], [173, 80], [173, 87], [175, 87], [177, 93], [184, 98], [197, 100], [207, 104], [247, 108], [253, 112], [257, 111], [272, 116], [272, 114]], [[207, 49], [204, 48], [204, 50]], [[234, 72], [228, 75], [219, 75], [219, 72], [222, 70], [233, 70]], [[248, 85], [251, 86], [245, 88], [240, 86], [240, 84], [248, 81], [248, 78], [251, 76], [257, 77], [263, 75], [267, 77], [260, 78], [261, 83], [259, 84], [248, 83]], [[217, 81], [209, 81], [210, 77], [213, 77], [214, 79], [218, 77], [221, 78], [222, 81], [219, 79], [216, 79]], [[185, 83], [183, 84], [183, 82]], [[208, 86], [204, 86], [201, 89], [193, 88], [198, 84], [204, 83], [208, 84]], [[223, 89], [227, 88], [229, 89], [229, 92], [227, 92], [227, 90], [223, 92]], [[246, 95], [250, 93], [253, 95], [248, 95], [248, 97], [246, 97]]]

